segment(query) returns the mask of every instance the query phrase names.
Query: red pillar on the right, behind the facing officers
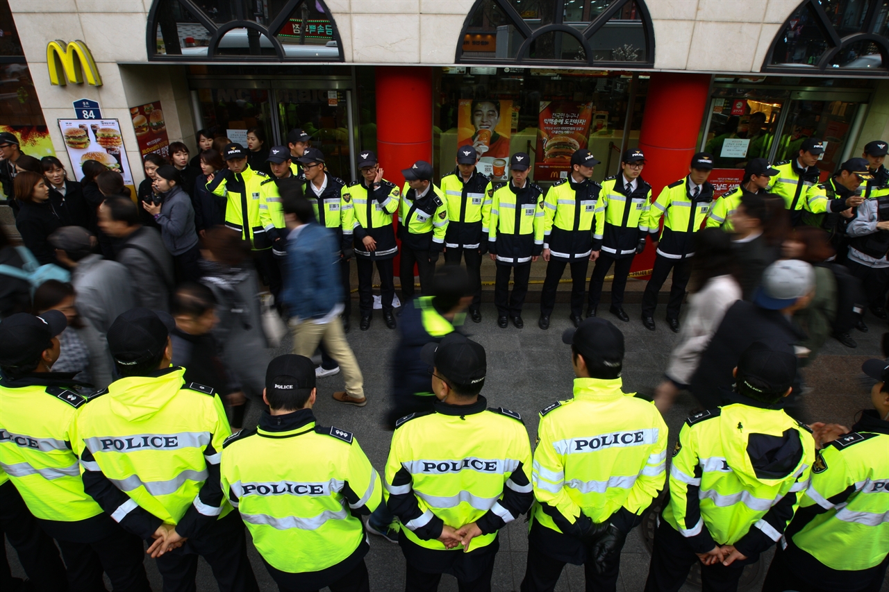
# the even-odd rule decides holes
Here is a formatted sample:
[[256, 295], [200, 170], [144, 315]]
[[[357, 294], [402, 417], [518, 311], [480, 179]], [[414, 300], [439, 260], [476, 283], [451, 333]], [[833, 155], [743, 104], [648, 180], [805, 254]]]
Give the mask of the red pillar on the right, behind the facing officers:
[[[688, 174], [698, 148], [709, 87], [709, 74], [652, 74], [639, 148], [645, 153], [642, 177], [652, 186], [655, 199], [661, 189]], [[633, 261], [633, 271], [651, 269], [653, 261], [654, 249], [649, 246]]]

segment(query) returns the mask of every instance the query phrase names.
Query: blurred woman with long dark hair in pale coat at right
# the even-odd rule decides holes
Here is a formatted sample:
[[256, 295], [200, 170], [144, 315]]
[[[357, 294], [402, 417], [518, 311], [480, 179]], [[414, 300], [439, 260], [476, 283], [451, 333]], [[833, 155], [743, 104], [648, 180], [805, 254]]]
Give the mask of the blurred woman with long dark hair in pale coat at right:
[[704, 228], [695, 234], [692, 279], [693, 294], [679, 332], [679, 342], [670, 354], [664, 380], [654, 391], [654, 404], [666, 412], [677, 393], [692, 380], [725, 311], [741, 299], [737, 261], [730, 235], [719, 228]]

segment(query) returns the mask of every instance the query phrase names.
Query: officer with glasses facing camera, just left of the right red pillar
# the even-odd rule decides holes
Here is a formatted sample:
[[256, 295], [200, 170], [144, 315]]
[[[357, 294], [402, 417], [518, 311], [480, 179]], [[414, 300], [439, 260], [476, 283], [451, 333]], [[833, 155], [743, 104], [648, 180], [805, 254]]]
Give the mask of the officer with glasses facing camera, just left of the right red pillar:
[[596, 316], [602, 284], [614, 265], [612, 303], [609, 311], [624, 323], [629, 315], [623, 309], [623, 292], [627, 287], [629, 268], [638, 253], [645, 250], [648, 235], [648, 211], [652, 207], [652, 186], [642, 178], [645, 155], [639, 148], [623, 153], [621, 172], [607, 177], [599, 191], [596, 204], [596, 229], [593, 252], [598, 252], [596, 267], [589, 278], [587, 316]]

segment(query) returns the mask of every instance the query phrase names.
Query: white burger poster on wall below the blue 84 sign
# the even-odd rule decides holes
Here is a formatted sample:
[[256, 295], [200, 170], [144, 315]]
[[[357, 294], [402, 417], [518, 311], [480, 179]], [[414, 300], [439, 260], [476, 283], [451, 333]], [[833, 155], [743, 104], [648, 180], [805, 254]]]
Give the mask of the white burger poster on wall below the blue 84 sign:
[[60, 119], [59, 128], [74, 168], [70, 173], [75, 179], [84, 176], [84, 162], [95, 160], [121, 173], [124, 185], [132, 185], [124, 138], [116, 119]]

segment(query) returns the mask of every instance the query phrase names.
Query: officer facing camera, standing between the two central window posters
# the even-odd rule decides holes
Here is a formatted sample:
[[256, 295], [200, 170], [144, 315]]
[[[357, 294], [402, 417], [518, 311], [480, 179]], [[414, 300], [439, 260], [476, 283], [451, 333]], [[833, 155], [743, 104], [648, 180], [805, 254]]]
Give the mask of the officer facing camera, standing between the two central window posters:
[[[488, 219], [488, 252], [497, 262], [494, 304], [497, 326], [506, 329], [508, 318], [517, 329], [525, 326], [522, 305], [528, 293], [531, 263], [543, 252], [545, 212], [543, 189], [528, 180], [531, 156], [517, 152], [509, 159], [512, 179], [488, 189], [491, 214]], [[515, 270], [515, 271], [513, 271]], [[509, 276], [513, 275], [512, 294]]]

